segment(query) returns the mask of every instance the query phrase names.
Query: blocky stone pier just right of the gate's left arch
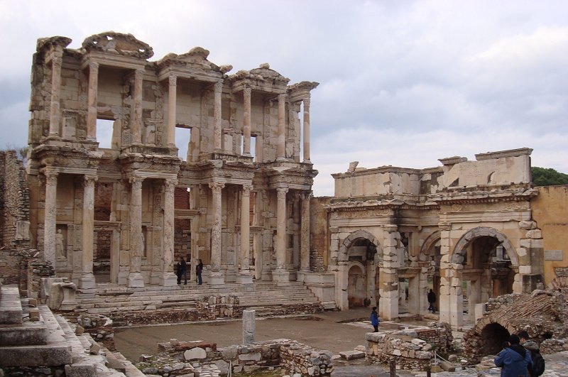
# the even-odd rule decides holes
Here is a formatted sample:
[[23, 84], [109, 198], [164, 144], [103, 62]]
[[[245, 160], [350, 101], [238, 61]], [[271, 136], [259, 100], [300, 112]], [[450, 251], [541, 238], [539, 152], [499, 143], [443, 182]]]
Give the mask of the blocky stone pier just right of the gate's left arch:
[[381, 307], [379, 315], [384, 319], [398, 318], [398, 268], [400, 260], [398, 246], [400, 233], [395, 224], [383, 226], [383, 269], [381, 270], [379, 293]]

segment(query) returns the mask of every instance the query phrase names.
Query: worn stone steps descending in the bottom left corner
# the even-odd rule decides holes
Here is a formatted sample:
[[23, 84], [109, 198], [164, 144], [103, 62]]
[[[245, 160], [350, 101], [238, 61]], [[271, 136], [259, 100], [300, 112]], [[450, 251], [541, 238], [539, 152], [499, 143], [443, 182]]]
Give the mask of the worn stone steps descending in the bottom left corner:
[[124, 373], [107, 367], [117, 359], [113, 354], [99, 354], [89, 334], [77, 336], [65, 318], [29, 301], [20, 298], [18, 288], [0, 285], [0, 371], [10, 374], [26, 367], [34, 376], [47, 369], [58, 376], [144, 376], [124, 358], [119, 363]]

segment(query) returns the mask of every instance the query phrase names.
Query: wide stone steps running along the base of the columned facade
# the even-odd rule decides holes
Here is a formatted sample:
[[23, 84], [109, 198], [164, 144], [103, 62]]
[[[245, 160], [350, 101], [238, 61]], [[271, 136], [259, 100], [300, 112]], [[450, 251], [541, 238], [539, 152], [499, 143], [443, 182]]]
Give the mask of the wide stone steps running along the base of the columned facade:
[[[215, 300], [211, 300], [214, 297]], [[199, 310], [203, 302], [212, 305], [230, 305], [233, 310], [253, 309], [258, 316], [284, 315], [302, 312], [319, 312], [318, 298], [302, 283], [276, 284], [258, 281], [249, 285], [226, 283], [176, 285], [163, 287], [149, 285], [127, 288], [114, 284], [99, 284], [93, 290], [77, 290], [77, 314], [116, 317], [124, 312], [155, 312]], [[231, 315], [240, 317], [240, 315]], [[220, 315], [219, 317], [226, 317]]]

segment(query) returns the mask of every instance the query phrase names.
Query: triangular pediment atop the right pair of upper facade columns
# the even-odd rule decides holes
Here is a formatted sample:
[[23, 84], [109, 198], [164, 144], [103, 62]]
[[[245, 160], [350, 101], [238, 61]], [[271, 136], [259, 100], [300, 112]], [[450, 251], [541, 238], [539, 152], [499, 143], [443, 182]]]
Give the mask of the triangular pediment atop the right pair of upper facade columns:
[[249, 86], [258, 92], [284, 94], [288, 91], [290, 79], [271, 70], [268, 63], [263, 63], [253, 70], [240, 70], [229, 76], [229, 82], [233, 84], [233, 92], [239, 92]]

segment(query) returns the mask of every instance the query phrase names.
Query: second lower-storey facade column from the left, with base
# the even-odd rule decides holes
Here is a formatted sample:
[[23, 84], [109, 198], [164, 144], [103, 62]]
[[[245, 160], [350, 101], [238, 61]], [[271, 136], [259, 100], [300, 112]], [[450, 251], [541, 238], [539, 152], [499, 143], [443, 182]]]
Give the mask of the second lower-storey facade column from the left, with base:
[[93, 275], [94, 182], [96, 175], [85, 175], [83, 181], [82, 266], [79, 288], [95, 288]]

